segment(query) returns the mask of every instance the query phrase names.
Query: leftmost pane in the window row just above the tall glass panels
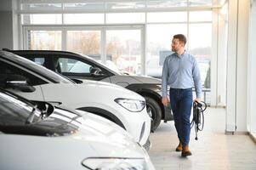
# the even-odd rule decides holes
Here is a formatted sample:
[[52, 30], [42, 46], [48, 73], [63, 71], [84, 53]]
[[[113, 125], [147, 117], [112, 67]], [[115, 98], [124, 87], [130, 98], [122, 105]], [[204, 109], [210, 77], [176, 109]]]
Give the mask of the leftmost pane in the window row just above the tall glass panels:
[[22, 24], [62, 24], [61, 14], [22, 14]]

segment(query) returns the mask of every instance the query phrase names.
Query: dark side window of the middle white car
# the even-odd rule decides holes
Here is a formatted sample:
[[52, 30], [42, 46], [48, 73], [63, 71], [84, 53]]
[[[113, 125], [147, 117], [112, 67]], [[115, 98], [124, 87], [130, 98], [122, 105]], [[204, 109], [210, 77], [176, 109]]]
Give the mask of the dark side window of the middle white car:
[[30, 86], [37, 86], [41, 84], [45, 84], [47, 82], [42, 79], [35, 77], [34, 75], [21, 70], [14, 65], [10, 65], [9, 63], [5, 63], [0, 60], [0, 84], [5, 85], [6, 81], [26, 81], [26, 83]]

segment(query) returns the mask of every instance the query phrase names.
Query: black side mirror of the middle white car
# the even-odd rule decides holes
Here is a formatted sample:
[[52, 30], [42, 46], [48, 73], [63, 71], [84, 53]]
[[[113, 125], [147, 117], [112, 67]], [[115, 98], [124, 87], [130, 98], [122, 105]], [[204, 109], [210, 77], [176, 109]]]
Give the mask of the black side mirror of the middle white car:
[[30, 86], [26, 82], [26, 78], [22, 76], [8, 77], [5, 82], [6, 88], [14, 88], [21, 92], [34, 92], [36, 88]]

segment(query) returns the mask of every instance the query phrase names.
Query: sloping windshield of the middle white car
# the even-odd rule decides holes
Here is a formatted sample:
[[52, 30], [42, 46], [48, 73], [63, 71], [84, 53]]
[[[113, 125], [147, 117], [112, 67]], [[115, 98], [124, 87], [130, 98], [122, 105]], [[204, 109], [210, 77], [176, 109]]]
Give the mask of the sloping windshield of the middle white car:
[[12, 59], [15, 63], [22, 65], [26, 67], [27, 69], [37, 72], [38, 74], [42, 75], [43, 77], [47, 77], [50, 80], [53, 80], [57, 83], [74, 83], [70, 79], [67, 79], [66, 77], [61, 76], [60, 74], [57, 74], [54, 71], [50, 71], [47, 68], [43, 67], [42, 65], [37, 65], [33, 61], [29, 59], [25, 59], [23, 57], [20, 57], [16, 54], [11, 54], [8, 52], [3, 52], [5, 55], [7, 55], [7, 59]]

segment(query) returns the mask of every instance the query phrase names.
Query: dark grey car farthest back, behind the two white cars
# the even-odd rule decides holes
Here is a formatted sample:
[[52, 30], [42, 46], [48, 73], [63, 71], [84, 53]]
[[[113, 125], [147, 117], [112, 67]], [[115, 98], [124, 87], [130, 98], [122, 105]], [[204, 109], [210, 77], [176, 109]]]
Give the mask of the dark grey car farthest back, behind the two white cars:
[[161, 120], [168, 122], [174, 119], [170, 107], [162, 105], [160, 79], [122, 74], [83, 54], [49, 50], [5, 50], [30, 59], [76, 82], [111, 82], [140, 94], [145, 98], [146, 110], [151, 115], [152, 132]]

